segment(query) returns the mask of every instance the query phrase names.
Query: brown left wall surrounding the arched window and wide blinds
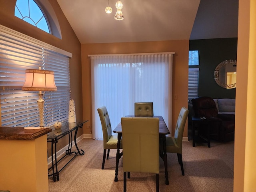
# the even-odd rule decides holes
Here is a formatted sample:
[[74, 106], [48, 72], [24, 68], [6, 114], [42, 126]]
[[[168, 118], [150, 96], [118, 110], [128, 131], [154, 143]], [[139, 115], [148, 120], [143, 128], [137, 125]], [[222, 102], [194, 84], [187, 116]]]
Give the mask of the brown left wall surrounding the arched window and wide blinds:
[[[82, 120], [81, 45], [58, 2], [56, 0], [49, 0], [49, 2], [58, 18], [62, 39], [56, 38], [14, 16], [16, 0], [0, 0], [0, 24], [73, 54], [70, 58], [71, 98], [75, 100], [76, 118]], [[81, 134], [82, 129], [79, 129], [78, 136]], [[62, 141], [58, 143], [58, 148], [63, 148], [66, 144], [66, 141]]]

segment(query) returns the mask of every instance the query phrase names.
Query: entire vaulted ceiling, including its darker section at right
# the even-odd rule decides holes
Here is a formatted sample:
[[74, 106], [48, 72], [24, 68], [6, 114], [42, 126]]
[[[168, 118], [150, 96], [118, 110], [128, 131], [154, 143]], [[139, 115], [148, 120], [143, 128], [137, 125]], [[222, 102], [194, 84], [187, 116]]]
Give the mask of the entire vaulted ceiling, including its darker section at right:
[[57, 1], [82, 44], [237, 37], [238, 0]]

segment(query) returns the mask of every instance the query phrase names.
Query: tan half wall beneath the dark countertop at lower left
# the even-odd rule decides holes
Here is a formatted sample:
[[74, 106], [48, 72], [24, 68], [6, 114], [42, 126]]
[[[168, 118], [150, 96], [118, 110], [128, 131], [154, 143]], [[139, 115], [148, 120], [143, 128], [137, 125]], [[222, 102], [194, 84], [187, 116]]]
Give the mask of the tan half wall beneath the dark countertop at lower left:
[[0, 146], [0, 190], [48, 191], [46, 134], [35, 140], [0, 139]]

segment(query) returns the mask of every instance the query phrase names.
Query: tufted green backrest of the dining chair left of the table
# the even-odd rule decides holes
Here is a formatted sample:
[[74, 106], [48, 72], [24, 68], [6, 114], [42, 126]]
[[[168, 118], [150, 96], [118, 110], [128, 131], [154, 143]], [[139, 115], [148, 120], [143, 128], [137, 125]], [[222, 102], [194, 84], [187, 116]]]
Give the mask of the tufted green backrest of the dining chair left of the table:
[[104, 149], [106, 149], [106, 143], [108, 142], [108, 140], [112, 135], [111, 123], [108, 116], [108, 110], [105, 106], [98, 108], [98, 113], [100, 116], [100, 121], [102, 126]]

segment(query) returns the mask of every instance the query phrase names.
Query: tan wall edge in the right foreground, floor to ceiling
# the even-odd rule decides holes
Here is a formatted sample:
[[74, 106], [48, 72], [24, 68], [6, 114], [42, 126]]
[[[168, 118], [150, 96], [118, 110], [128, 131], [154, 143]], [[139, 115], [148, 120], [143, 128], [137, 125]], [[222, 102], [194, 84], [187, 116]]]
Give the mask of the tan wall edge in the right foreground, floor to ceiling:
[[240, 0], [238, 18], [234, 192], [256, 189], [256, 1]]

